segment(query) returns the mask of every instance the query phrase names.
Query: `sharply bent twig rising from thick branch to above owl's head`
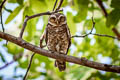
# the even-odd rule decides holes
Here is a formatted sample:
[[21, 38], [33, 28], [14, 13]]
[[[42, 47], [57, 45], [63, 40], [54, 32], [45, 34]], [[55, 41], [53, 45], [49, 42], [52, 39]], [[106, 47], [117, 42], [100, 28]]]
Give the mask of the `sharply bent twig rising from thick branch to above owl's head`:
[[24, 32], [24, 30], [25, 30], [25, 27], [26, 27], [26, 25], [27, 25], [27, 21], [28, 21], [28, 20], [30, 20], [30, 19], [32, 19], [32, 18], [35, 18], [35, 17], [43, 16], [43, 15], [51, 15], [51, 14], [53, 14], [53, 13], [57, 13], [57, 12], [60, 12], [60, 11], [63, 11], [63, 10], [57, 10], [57, 11], [52, 11], [52, 12], [49, 12], [49, 11], [48, 11], [48, 12], [44, 12], [44, 13], [35, 14], [35, 15], [32, 15], [32, 16], [26, 16], [19, 37], [22, 38], [23, 32]]

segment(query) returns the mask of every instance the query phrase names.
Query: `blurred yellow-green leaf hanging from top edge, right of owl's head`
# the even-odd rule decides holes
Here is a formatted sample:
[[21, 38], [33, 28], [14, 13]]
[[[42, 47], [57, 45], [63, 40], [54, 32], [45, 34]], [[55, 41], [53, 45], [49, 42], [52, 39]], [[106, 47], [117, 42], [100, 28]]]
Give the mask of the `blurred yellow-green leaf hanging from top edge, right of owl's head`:
[[82, 20], [86, 19], [89, 0], [74, 0], [74, 2], [74, 8], [78, 11], [77, 15], [74, 17], [74, 21], [81, 22]]

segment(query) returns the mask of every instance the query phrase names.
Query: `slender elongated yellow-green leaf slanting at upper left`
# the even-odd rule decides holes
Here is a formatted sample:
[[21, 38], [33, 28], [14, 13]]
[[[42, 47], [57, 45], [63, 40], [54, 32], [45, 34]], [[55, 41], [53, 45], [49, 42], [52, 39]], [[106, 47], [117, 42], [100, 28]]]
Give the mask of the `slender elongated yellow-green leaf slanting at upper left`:
[[7, 20], [5, 21], [5, 24], [8, 24], [10, 21], [12, 21], [18, 15], [22, 8], [23, 5], [16, 7], [15, 10], [8, 16]]

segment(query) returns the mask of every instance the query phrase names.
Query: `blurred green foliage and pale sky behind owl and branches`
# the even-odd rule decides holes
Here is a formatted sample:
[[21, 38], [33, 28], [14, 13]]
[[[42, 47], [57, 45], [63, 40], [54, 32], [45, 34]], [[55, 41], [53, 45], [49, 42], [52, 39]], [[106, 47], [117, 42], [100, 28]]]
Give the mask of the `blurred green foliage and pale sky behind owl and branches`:
[[[0, 3], [3, 0], [0, 0]], [[59, 1], [59, 0], [58, 0]], [[103, 15], [96, 0], [64, 0], [63, 13], [72, 35], [83, 35], [92, 28], [91, 17], [94, 13], [95, 29], [93, 33], [116, 36], [112, 28], [120, 32], [120, 0], [101, 0], [108, 12]], [[52, 11], [55, 0], [7, 0], [3, 8], [5, 32], [19, 36], [25, 16]], [[23, 39], [39, 46], [49, 16], [41, 16], [28, 21]], [[2, 28], [0, 27], [2, 31]], [[46, 48], [47, 49], [47, 48]], [[14, 64], [0, 70], [0, 80], [22, 80], [31, 51], [21, 48], [11, 42], [5, 45], [0, 39], [0, 67], [14, 59], [15, 55], [22, 57]], [[120, 66], [120, 42], [107, 37], [89, 35], [85, 38], [73, 38], [68, 55], [86, 57], [88, 60]], [[67, 63], [66, 71], [59, 72], [54, 67], [54, 59], [35, 55], [28, 74], [28, 80], [120, 80], [120, 74], [104, 72], [96, 69]]]

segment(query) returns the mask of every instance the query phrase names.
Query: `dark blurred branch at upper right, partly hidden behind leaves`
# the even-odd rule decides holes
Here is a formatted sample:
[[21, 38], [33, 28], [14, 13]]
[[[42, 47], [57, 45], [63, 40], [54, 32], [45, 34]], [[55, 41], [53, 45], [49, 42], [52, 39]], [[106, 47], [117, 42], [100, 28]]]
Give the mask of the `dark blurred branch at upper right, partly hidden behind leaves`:
[[[98, 3], [98, 5], [100, 6], [100, 8], [102, 9], [102, 12], [103, 12], [104, 16], [107, 18], [108, 13], [107, 13], [107, 11], [106, 11], [106, 9], [105, 9], [102, 1], [101, 1], [101, 0], [96, 0], [96, 2]], [[116, 34], [116, 36], [120, 39], [120, 33], [117, 31], [117, 29], [116, 29], [115, 27], [112, 29], [112, 31], [113, 31], [113, 32]]]

